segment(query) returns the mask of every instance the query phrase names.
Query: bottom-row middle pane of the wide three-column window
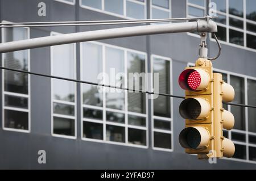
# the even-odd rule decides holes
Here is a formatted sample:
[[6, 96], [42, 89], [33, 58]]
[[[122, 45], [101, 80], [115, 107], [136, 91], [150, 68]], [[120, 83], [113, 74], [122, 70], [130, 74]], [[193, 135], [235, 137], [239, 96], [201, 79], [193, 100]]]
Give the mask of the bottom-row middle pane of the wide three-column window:
[[125, 127], [106, 125], [106, 141], [125, 142]]

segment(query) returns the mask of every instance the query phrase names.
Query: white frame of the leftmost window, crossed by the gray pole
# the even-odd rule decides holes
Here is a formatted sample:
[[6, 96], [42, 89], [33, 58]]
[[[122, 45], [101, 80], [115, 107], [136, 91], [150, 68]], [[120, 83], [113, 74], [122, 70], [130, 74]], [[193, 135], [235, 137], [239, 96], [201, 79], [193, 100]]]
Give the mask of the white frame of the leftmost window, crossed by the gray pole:
[[[2, 23], [12, 23], [6, 20], [2, 20]], [[30, 39], [30, 28], [29, 27], [22, 27], [27, 30], [27, 38]], [[1, 30], [1, 36], [2, 36], [2, 42], [5, 39], [5, 33], [2, 28]], [[27, 49], [28, 53], [28, 70], [30, 71], [31, 65], [30, 65], [30, 49]], [[5, 65], [4, 60], [4, 54], [2, 53], [2, 66]], [[5, 70], [2, 70], [2, 128], [5, 131], [14, 131], [14, 132], [22, 132], [22, 133], [30, 133], [31, 132], [31, 79], [30, 74], [28, 76], [28, 94], [20, 94], [15, 92], [9, 92], [5, 91]], [[11, 106], [5, 106], [5, 95], [13, 95], [13, 96], [19, 96], [22, 98], [27, 98], [28, 108], [15, 108]], [[16, 129], [16, 128], [6, 128], [5, 127], [5, 110], [12, 110], [12, 111], [19, 111], [19, 112], [27, 112], [28, 113], [28, 129]]]

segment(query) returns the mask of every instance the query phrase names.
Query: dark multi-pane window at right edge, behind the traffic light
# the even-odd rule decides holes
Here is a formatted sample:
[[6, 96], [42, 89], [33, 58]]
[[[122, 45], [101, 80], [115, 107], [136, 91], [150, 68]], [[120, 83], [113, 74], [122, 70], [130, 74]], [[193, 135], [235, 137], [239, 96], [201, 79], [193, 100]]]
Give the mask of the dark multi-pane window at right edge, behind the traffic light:
[[[193, 64], [189, 64], [193, 65]], [[234, 87], [235, 97], [232, 103], [256, 104], [256, 78], [236, 74], [224, 70], [214, 69], [214, 73], [221, 73], [224, 82]], [[255, 162], [256, 150], [256, 114], [255, 108], [240, 107], [223, 104], [223, 108], [232, 112], [235, 117], [234, 128], [230, 131], [224, 129], [223, 136], [234, 142], [236, 147], [233, 158], [243, 159], [246, 162]]]

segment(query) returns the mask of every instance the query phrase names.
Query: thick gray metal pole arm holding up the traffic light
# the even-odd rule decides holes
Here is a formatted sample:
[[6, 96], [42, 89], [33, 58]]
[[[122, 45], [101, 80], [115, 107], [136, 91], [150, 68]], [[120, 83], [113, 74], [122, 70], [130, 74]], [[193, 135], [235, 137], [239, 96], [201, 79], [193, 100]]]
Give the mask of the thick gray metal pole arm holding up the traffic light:
[[153, 35], [177, 32], [217, 32], [217, 25], [212, 20], [197, 20], [196, 22], [156, 24], [107, 30], [68, 33], [64, 35], [38, 37], [35, 39], [11, 41], [0, 44], [0, 53], [13, 52], [31, 48], [47, 47], [76, 43], [82, 41], [113, 39], [117, 37]]

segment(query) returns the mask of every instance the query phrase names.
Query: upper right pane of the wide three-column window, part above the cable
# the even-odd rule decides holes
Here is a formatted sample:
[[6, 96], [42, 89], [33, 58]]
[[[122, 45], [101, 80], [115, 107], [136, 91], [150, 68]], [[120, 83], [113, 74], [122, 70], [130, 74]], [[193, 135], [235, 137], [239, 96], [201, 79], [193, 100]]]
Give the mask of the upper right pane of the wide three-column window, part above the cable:
[[[127, 52], [127, 77], [128, 77], [128, 85], [130, 89], [145, 90], [145, 87], [144, 87], [146, 84], [146, 75], [144, 74], [145, 72], [146, 71], [145, 71], [144, 54]], [[136, 86], [136, 83], [139, 83], [138, 84], [139, 87]]]

